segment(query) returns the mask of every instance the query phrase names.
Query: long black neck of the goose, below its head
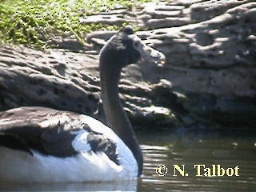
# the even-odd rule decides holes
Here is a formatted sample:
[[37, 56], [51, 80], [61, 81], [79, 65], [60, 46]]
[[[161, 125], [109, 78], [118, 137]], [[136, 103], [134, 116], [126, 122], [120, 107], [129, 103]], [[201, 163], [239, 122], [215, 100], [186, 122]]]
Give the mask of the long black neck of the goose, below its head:
[[102, 105], [108, 126], [118, 134], [118, 137], [125, 142], [126, 146], [134, 154], [134, 158], [138, 163], [138, 175], [140, 175], [142, 174], [143, 166], [142, 150], [138, 145], [138, 140], [126, 112], [122, 108], [118, 95], [120, 74], [121, 69], [116, 69], [107, 65], [107, 63], [100, 62]]

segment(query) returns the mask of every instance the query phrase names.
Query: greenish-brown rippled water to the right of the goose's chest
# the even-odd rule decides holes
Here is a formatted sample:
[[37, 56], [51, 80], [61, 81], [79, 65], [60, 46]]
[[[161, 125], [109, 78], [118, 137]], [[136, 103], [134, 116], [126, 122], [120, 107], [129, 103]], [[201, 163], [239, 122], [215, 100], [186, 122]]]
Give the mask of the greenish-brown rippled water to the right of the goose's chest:
[[[256, 189], [256, 137], [241, 138], [237, 136], [197, 134], [162, 134], [144, 135], [142, 150], [145, 159], [144, 175], [138, 182], [138, 190], [162, 191], [255, 191]], [[155, 169], [165, 165], [168, 172], [158, 176]], [[236, 177], [196, 177], [194, 165], [220, 165], [227, 169], [239, 167]], [[182, 176], [174, 166], [182, 168]], [[231, 171], [231, 170], [230, 170]], [[216, 170], [217, 173], [217, 170]], [[230, 172], [231, 173], [231, 172]], [[204, 174], [201, 169], [201, 174]]]

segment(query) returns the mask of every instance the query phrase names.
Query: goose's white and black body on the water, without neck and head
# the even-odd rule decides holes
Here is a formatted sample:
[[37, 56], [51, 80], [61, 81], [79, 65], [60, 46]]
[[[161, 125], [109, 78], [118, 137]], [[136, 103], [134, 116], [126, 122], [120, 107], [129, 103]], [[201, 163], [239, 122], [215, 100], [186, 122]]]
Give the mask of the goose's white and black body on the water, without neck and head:
[[138, 174], [129, 148], [90, 116], [20, 107], [0, 117], [5, 131], [0, 135], [2, 181], [114, 181]]

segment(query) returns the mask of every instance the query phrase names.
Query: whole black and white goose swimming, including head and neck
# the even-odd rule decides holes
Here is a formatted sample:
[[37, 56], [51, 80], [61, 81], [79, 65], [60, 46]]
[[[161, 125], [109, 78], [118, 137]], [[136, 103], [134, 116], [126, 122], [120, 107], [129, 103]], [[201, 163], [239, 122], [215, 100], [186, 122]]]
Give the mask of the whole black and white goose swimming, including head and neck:
[[[0, 113], [0, 181], [118, 181], [142, 174], [142, 151], [118, 97], [122, 67], [164, 59], [130, 26], [102, 48], [102, 104], [108, 126], [83, 114], [45, 107]], [[114, 133], [115, 132], [115, 133]]]

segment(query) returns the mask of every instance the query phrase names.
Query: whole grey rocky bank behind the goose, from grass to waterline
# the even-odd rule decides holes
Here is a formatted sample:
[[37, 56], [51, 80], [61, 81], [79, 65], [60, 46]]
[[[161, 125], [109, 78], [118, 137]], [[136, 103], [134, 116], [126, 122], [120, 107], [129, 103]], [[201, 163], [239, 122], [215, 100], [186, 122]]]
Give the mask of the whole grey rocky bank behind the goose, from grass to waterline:
[[[122, 25], [166, 55], [165, 65], [141, 63], [122, 71], [120, 93], [134, 125], [218, 128], [256, 123], [256, 2], [161, 1], [134, 10], [118, 7], [81, 18]], [[104, 122], [98, 53], [113, 31], [74, 38], [46, 52], [0, 47], [0, 110], [50, 106]]]

